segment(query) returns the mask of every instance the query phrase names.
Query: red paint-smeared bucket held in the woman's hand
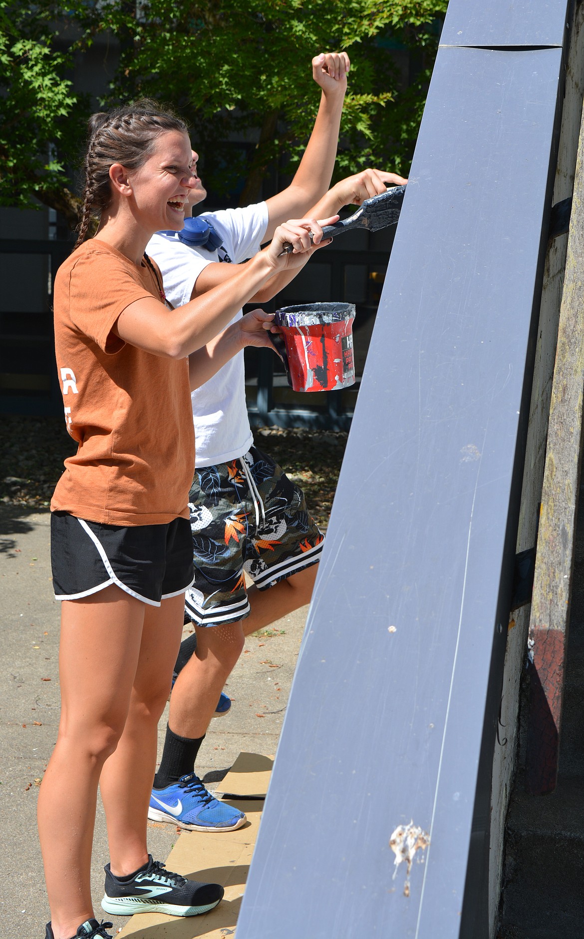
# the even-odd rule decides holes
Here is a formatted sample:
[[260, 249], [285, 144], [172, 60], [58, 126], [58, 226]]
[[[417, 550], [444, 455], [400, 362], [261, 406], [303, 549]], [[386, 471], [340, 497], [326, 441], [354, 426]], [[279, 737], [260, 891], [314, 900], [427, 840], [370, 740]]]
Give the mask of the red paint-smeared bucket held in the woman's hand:
[[333, 392], [355, 382], [354, 303], [304, 303], [276, 310], [269, 333], [295, 392]]

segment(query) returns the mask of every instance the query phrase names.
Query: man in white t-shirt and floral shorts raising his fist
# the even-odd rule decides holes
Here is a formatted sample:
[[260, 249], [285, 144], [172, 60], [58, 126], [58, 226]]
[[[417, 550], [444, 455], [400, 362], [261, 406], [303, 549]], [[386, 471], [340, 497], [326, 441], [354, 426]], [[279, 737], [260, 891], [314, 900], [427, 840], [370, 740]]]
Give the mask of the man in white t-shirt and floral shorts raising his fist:
[[[316, 56], [312, 65], [321, 102], [290, 186], [257, 205], [185, 219], [183, 232], [159, 232], [148, 243], [147, 254], [161, 268], [166, 298], [173, 306], [232, 277], [236, 266], [291, 215], [301, 217], [312, 207], [311, 217], [332, 216], [342, 206], [360, 205], [385, 192], [387, 185], [406, 181], [392, 173], [364, 170], [327, 192], [349, 62], [345, 53], [330, 53]], [[190, 204], [200, 203], [206, 194], [199, 180]], [[253, 300], [271, 299], [297, 272], [272, 278]], [[234, 319], [240, 316], [241, 311]], [[186, 615], [195, 633], [181, 646], [178, 662], [184, 668], [171, 696], [148, 817], [187, 829], [231, 831], [245, 816], [207, 793], [193, 773], [194, 761], [245, 636], [309, 602], [323, 539], [300, 488], [254, 447], [242, 351], [192, 392], [192, 415], [195, 580], [186, 596]], [[249, 589], [244, 571], [254, 580]], [[222, 700], [228, 709], [229, 700], [223, 695]], [[220, 713], [221, 708], [220, 700]]]

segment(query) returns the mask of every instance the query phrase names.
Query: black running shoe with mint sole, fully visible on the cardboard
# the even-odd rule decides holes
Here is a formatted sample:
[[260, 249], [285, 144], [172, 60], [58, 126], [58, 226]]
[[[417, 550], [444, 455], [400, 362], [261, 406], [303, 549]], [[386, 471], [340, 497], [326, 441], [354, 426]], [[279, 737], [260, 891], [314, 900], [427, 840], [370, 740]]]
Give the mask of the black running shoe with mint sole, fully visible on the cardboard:
[[115, 916], [134, 913], [197, 916], [217, 906], [223, 892], [220, 884], [199, 884], [165, 870], [160, 861], [153, 861], [152, 854], [148, 854], [148, 863], [129, 877], [115, 877], [110, 865], [105, 865], [101, 906]]

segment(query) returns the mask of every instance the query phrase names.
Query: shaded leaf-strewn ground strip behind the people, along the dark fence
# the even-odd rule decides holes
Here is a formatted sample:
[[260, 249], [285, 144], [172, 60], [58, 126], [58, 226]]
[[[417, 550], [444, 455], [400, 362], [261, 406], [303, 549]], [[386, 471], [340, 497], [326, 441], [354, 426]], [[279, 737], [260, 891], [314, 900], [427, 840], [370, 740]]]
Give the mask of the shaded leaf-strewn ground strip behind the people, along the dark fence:
[[[327, 526], [346, 433], [280, 427], [254, 431], [257, 446], [301, 486], [317, 524]], [[0, 417], [0, 500], [48, 509], [63, 460], [76, 446], [61, 418]]]

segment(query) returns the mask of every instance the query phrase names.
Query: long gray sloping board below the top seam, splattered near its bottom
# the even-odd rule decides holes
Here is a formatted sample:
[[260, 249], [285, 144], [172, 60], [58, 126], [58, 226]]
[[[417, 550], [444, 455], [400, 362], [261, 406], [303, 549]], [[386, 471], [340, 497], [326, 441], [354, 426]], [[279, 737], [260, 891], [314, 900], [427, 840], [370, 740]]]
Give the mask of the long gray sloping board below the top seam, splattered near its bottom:
[[[560, 49], [438, 53], [238, 939], [459, 934], [560, 75]], [[431, 845], [406, 898], [389, 839], [410, 820]]]

